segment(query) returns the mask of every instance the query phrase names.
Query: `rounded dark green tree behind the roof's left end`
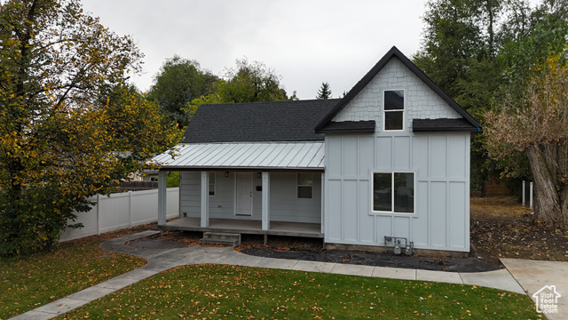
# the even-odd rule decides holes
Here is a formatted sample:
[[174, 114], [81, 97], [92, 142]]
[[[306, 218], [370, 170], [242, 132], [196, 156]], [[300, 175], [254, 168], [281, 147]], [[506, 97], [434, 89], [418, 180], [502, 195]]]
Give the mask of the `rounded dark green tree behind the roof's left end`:
[[187, 102], [212, 93], [212, 84], [217, 80], [217, 76], [209, 70], [201, 69], [199, 62], [174, 55], [164, 61], [154, 76], [154, 84], [147, 97], [158, 101], [163, 113], [183, 128], [189, 119], [182, 108]]

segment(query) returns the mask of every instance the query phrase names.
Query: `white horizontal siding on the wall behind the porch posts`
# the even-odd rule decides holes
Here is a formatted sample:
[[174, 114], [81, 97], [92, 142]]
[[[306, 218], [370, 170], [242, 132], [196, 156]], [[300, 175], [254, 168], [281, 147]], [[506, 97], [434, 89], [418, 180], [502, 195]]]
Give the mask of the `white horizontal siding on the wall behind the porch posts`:
[[[262, 178], [252, 174], [252, 214], [236, 215], [235, 179], [238, 172], [215, 172], [215, 196], [209, 196], [209, 218], [262, 220]], [[321, 222], [321, 173], [313, 172], [312, 198], [297, 197], [296, 172], [270, 172], [270, 220]], [[180, 172], [180, 216], [201, 217], [201, 172]]]

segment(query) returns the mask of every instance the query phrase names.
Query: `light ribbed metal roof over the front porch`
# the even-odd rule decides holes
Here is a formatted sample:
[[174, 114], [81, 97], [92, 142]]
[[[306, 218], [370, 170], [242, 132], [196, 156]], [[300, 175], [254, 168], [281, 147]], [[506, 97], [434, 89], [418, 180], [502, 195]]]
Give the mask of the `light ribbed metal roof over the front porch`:
[[162, 169], [324, 170], [324, 142], [179, 144], [174, 158], [154, 156]]

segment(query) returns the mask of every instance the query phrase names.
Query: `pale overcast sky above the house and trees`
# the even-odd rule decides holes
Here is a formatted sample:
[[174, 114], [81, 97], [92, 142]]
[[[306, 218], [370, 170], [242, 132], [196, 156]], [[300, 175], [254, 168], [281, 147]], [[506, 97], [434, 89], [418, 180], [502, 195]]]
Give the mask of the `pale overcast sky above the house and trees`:
[[288, 95], [313, 99], [322, 82], [338, 97], [392, 45], [410, 58], [422, 38], [422, 0], [83, 0], [146, 55], [133, 82], [146, 92], [165, 59], [197, 60], [217, 76], [235, 60], [262, 61]]

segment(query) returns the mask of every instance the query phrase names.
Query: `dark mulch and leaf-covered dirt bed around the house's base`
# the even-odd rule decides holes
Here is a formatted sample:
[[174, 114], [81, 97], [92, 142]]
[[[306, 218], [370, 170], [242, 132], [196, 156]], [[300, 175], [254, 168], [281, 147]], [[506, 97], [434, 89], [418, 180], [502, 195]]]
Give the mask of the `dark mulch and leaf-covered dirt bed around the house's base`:
[[[264, 236], [242, 235], [241, 246], [235, 250], [279, 259], [459, 272], [502, 268], [499, 258], [568, 261], [568, 234], [534, 224], [530, 212], [509, 196], [471, 198], [471, 252], [466, 258], [323, 250], [322, 239], [288, 236], [269, 236], [264, 245]], [[156, 241], [166, 241], [172, 246], [179, 245], [176, 242], [191, 246], [199, 244], [201, 236], [201, 232], [167, 231], [162, 237], [146, 237], [130, 245], [155, 247]]]

